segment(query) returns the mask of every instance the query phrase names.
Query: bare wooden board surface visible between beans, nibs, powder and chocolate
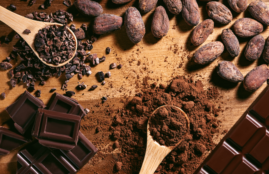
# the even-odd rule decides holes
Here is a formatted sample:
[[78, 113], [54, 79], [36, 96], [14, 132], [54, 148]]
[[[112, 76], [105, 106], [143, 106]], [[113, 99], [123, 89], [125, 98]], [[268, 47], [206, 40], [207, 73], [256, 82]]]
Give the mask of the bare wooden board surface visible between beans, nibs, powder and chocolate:
[[[71, 0], [72, 2], [74, 0]], [[62, 4], [62, 0], [55, 0], [52, 2], [52, 6], [43, 10], [39, 6], [44, 0], [37, 0], [37, 2], [29, 6], [28, 2], [23, 0], [5, 0], [0, 1], [0, 5], [7, 8], [10, 3], [17, 6], [15, 11], [17, 14], [25, 16], [26, 14], [37, 12], [53, 13], [56, 10], [72, 10], [73, 6], [67, 8]], [[137, 1], [131, 1], [123, 5], [113, 4], [111, 0], [98, 0], [104, 9], [104, 13], [115, 14], [124, 17], [124, 12], [129, 6], [137, 7]], [[220, 0], [228, 8], [229, 5], [227, 1]], [[251, 1], [248, 1], [250, 3]], [[269, 5], [269, 0], [265, 3]], [[159, 0], [157, 5], [163, 5], [162, 0]], [[205, 9], [206, 3], [198, 1], [200, 8], [200, 22], [209, 18]], [[231, 8], [230, 8], [231, 10]], [[221, 41], [220, 34], [222, 29], [231, 28], [233, 23], [243, 17], [251, 17], [248, 9], [243, 13], [236, 13], [233, 10], [233, 20], [228, 25], [222, 25], [215, 23], [215, 29], [213, 34], [201, 45], [205, 45], [212, 41]], [[216, 66], [218, 62], [223, 60], [228, 60], [233, 62], [242, 74], [245, 76], [250, 70], [259, 66], [261, 64], [266, 64], [266, 62], [259, 58], [255, 61], [248, 61], [244, 56], [244, 47], [251, 38], [239, 38], [240, 42], [240, 54], [236, 58], [232, 58], [227, 50], [225, 49], [222, 55], [217, 58], [214, 62], [207, 65], [199, 65], [193, 61], [192, 55], [194, 52], [200, 48], [195, 47], [191, 44], [190, 33], [194, 29], [185, 23], [182, 18], [181, 13], [177, 16], [168, 13], [170, 20], [170, 29], [167, 36], [162, 39], [154, 38], [151, 33], [150, 25], [152, 20], [153, 10], [142, 14], [143, 21], [145, 23], [146, 34], [141, 42], [134, 45], [128, 38], [126, 34], [125, 27], [121, 30], [104, 34], [98, 38], [93, 44], [93, 49], [91, 53], [97, 53], [98, 57], [102, 55], [106, 56], [106, 61], [100, 63], [98, 66], [92, 67], [92, 75], [89, 77], [84, 76], [82, 79], [78, 79], [74, 76], [70, 82], [68, 82], [68, 90], [73, 90], [76, 92], [73, 98], [77, 99], [84, 108], [89, 108], [90, 113], [88, 118], [82, 121], [82, 125], [89, 124], [92, 125], [93, 129], [89, 131], [83, 131], [82, 133], [93, 142], [98, 148], [101, 149], [101, 145], [98, 144], [99, 141], [103, 139], [108, 139], [108, 132], [102, 131], [100, 134], [95, 135], [94, 131], [98, 123], [98, 120], [107, 120], [110, 122], [111, 118], [104, 115], [104, 110], [107, 104], [114, 105], [114, 107], [120, 107], [122, 103], [120, 102], [123, 97], [132, 97], [136, 92], [139, 92], [141, 86], [137, 85], [139, 82], [143, 81], [144, 77], [150, 77], [149, 83], [157, 82], [157, 84], [168, 84], [172, 77], [176, 75], [190, 75], [194, 76], [194, 79], [202, 80], [204, 88], [215, 86], [218, 88], [223, 98], [220, 99], [219, 104], [222, 108], [226, 108], [223, 113], [220, 114], [219, 118], [223, 120], [220, 131], [223, 129], [230, 129], [233, 124], [239, 119], [243, 112], [248, 108], [248, 106], [255, 100], [259, 93], [265, 88], [266, 83], [261, 86], [257, 91], [250, 93], [244, 90], [242, 83], [233, 84], [222, 78], [220, 78], [216, 73]], [[77, 27], [80, 27], [83, 23], [91, 27], [93, 22], [92, 17], [85, 17], [82, 15], [74, 17], [74, 22]], [[2, 45], [0, 47], [0, 60], [5, 60], [6, 56], [12, 51], [12, 45], [14, 45], [18, 39], [14, 39], [15, 32], [0, 22], [0, 40]], [[266, 39], [269, 35], [269, 29], [264, 26], [264, 31], [261, 35]], [[4, 38], [8, 36], [11, 40], [9, 45], [3, 43]], [[106, 55], [106, 47], [111, 47], [112, 51], [110, 54]], [[13, 66], [18, 65], [20, 60], [12, 60], [10, 63]], [[117, 64], [121, 63], [124, 66], [121, 69], [109, 70], [109, 65], [113, 62]], [[140, 62], [140, 65], [139, 63]], [[183, 65], [181, 68], [181, 64]], [[95, 74], [98, 71], [111, 72], [111, 78], [106, 78], [106, 85], [102, 86], [100, 82], [96, 80]], [[5, 111], [5, 107], [16, 101], [16, 99], [26, 90], [26, 86], [23, 83], [18, 84], [15, 88], [12, 88], [9, 83], [9, 73], [8, 70], [0, 70], [0, 93], [6, 93], [6, 99], [0, 100], [0, 125], [10, 127], [12, 126], [12, 120], [10, 116]], [[45, 104], [48, 103], [51, 95], [53, 93], [49, 92], [51, 88], [56, 87], [56, 92], [61, 94], [65, 93], [61, 90], [62, 84], [65, 81], [65, 76], [59, 78], [51, 77], [46, 81], [44, 86], [36, 85], [36, 90], [41, 90], [41, 98]], [[98, 85], [98, 88], [94, 91], [89, 91], [89, 87], [85, 90], [77, 90], [76, 86], [78, 82], [85, 82], [89, 87], [92, 85]], [[135, 83], [137, 82], [137, 83]], [[39, 83], [39, 82], [38, 82]], [[36, 83], [36, 84], [38, 84]], [[84, 95], [82, 95], [84, 93]], [[33, 95], [34, 92], [32, 92]], [[100, 107], [95, 107], [97, 103], [101, 103], [101, 97], [107, 96], [108, 101], [106, 105], [100, 105]], [[223, 102], [224, 104], [222, 104]], [[95, 111], [92, 113], [92, 111]], [[106, 127], [104, 127], [105, 129]], [[220, 140], [221, 136], [216, 138], [216, 142]], [[10, 154], [0, 157], [0, 174], [15, 173], [16, 172], [16, 154], [21, 148], [17, 148], [11, 151]], [[113, 160], [113, 159], [111, 159]], [[93, 171], [98, 170], [102, 173], [102, 169], [111, 169], [108, 164], [111, 161], [100, 159], [100, 166], [98, 168], [91, 169], [91, 164], [88, 163], [84, 168], [81, 169], [79, 173], [93, 173]], [[105, 171], [105, 170], [104, 170]], [[104, 172], [105, 173], [105, 172]]]

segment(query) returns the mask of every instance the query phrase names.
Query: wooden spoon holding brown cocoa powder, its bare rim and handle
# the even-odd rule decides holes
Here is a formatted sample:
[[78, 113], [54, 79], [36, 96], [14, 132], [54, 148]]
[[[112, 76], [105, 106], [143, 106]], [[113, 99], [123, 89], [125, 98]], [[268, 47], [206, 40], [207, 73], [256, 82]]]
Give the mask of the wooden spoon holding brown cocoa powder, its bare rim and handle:
[[[155, 109], [150, 115], [150, 118], [158, 109], [165, 106], [170, 106], [170, 105], [164, 105]], [[180, 110], [180, 112], [185, 116], [186, 121], [187, 121], [187, 132], [189, 132], [190, 122], [186, 113], [176, 106], [170, 106], [170, 107]], [[145, 158], [144, 158], [139, 174], [153, 174], [155, 170], [157, 169], [157, 167], [162, 162], [162, 160], [182, 142], [182, 140], [187, 134], [186, 132], [186, 134], [184, 134], [182, 139], [179, 140], [179, 142], [176, 143], [176, 145], [174, 146], [169, 146], [169, 147], [161, 146], [159, 145], [158, 142], [152, 139], [152, 136], [150, 135], [149, 122], [150, 121], [148, 121], [148, 127], [147, 127], [147, 149], [146, 149]]]

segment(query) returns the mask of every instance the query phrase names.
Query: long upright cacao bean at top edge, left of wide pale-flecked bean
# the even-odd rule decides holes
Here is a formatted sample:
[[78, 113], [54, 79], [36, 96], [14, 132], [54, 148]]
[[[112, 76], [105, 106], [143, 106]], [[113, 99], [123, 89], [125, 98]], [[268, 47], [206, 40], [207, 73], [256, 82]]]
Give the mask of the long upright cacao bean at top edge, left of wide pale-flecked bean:
[[182, 1], [183, 19], [188, 25], [196, 26], [200, 21], [200, 12], [196, 0], [183, 0]]

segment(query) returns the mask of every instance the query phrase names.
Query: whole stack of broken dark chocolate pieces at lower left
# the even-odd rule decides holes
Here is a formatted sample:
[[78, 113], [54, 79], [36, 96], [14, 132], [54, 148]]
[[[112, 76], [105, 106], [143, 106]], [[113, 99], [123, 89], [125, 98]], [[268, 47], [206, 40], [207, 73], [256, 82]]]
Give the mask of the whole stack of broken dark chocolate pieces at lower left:
[[98, 151], [79, 131], [86, 113], [75, 99], [55, 92], [45, 107], [25, 91], [5, 110], [18, 132], [0, 127], [0, 155], [30, 142], [30, 134], [38, 139], [18, 152], [17, 174], [76, 173]]

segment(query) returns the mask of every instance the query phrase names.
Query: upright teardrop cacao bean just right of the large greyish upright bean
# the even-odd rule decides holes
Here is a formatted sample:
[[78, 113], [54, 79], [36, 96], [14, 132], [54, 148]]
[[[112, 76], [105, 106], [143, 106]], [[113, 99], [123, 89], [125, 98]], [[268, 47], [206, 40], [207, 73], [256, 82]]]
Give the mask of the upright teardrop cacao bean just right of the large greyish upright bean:
[[169, 30], [169, 18], [163, 6], [159, 6], [154, 10], [151, 32], [156, 38], [166, 36]]

